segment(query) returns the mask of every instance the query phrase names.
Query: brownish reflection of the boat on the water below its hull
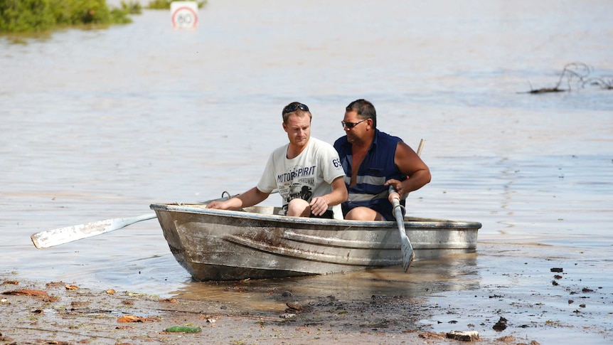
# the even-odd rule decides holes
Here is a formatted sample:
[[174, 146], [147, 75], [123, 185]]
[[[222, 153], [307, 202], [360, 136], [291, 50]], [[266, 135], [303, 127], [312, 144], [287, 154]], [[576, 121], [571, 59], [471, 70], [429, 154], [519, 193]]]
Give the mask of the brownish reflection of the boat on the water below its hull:
[[[476, 254], [450, 255], [439, 260], [414, 262], [405, 273], [402, 267], [382, 267], [334, 275], [317, 275], [241, 282], [193, 282], [175, 297], [239, 303], [252, 310], [282, 310], [279, 294], [295, 299], [334, 296], [342, 300], [365, 300], [372, 296], [427, 297], [439, 292], [474, 290], [479, 287]], [[276, 297], [276, 298], [275, 298]], [[279, 307], [280, 306], [280, 307]]]

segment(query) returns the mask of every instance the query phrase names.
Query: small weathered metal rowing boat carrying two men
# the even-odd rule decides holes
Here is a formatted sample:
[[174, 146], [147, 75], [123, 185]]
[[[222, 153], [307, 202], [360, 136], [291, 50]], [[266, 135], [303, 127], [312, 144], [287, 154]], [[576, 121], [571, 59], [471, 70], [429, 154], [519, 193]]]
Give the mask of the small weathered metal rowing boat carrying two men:
[[[203, 204], [154, 203], [174, 258], [194, 280], [321, 275], [403, 265], [396, 222], [277, 216], [279, 208], [240, 211]], [[405, 217], [415, 260], [473, 253], [481, 223]]]

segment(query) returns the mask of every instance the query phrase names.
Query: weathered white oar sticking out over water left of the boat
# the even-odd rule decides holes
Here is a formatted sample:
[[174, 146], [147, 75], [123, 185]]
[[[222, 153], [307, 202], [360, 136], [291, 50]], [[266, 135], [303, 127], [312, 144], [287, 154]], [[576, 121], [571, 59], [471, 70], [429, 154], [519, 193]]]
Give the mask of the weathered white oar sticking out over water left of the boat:
[[30, 237], [36, 248], [49, 248], [54, 245], [61, 245], [75, 240], [81, 240], [82, 238], [100, 235], [102, 233], [110, 233], [111, 231], [124, 228], [127, 225], [152, 218], [156, 218], [155, 213], [147, 213], [142, 216], [130, 218], [106, 219], [104, 221], [95, 221], [92, 223], [68, 226], [66, 228], [41, 231]]

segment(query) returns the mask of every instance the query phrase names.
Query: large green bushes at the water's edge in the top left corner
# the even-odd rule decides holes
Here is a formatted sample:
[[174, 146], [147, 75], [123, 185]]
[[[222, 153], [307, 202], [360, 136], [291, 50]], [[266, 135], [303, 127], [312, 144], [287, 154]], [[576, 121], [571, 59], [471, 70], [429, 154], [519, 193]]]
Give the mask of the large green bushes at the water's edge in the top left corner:
[[41, 32], [63, 26], [131, 23], [138, 2], [122, 1], [110, 9], [106, 0], [0, 0], [0, 33]]

